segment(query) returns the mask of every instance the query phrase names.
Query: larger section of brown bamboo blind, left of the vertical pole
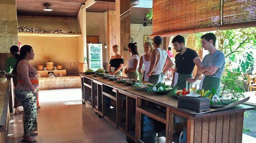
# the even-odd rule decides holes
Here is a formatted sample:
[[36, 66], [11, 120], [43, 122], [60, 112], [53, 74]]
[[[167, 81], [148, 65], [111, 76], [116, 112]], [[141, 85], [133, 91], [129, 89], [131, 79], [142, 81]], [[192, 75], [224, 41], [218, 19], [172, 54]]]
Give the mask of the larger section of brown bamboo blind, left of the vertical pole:
[[153, 34], [215, 26], [220, 23], [220, 1], [154, 0]]

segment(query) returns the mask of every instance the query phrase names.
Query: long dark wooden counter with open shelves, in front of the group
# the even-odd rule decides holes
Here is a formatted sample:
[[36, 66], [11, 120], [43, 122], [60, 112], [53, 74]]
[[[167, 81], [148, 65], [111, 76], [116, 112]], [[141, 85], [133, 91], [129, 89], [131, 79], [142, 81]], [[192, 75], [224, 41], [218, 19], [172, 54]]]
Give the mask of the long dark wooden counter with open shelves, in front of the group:
[[[173, 133], [177, 115], [185, 119], [182, 126], [187, 128], [187, 142], [242, 142], [244, 112], [254, 109], [239, 105], [198, 114], [177, 108], [177, 100], [168, 95], [159, 96], [83, 73], [80, 76], [83, 104], [116, 126], [129, 142], [140, 142], [142, 114], [165, 125], [166, 142], [177, 142], [174, 138], [182, 131]], [[149, 106], [152, 104], [159, 108]]]

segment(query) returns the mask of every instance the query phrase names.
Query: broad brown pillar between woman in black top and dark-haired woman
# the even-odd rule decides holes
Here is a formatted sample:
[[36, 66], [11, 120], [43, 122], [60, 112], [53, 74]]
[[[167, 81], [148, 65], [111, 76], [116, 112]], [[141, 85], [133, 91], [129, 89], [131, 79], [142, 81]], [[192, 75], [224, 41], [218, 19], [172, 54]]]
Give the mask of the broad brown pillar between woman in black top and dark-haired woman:
[[[131, 35], [131, 1], [116, 0], [116, 43], [120, 46], [120, 54], [123, 56], [124, 67], [130, 58], [127, 52], [127, 44]], [[124, 70], [123, 70], [124, 71]], [[125, 76], [123, 72], [123, 76]]]

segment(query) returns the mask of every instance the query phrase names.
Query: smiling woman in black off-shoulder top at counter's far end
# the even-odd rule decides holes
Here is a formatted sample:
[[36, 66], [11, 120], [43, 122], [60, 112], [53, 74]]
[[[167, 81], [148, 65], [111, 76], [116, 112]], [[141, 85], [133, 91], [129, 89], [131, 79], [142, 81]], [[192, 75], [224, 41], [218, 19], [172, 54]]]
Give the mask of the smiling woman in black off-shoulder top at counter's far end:
[[123, 69], [123, 57], [118, 54], [118, 45], [113, 45], [112, 50], [114, 52], [114, 56], [111, 57], [109, 61], [109, 74], [122, 76]]

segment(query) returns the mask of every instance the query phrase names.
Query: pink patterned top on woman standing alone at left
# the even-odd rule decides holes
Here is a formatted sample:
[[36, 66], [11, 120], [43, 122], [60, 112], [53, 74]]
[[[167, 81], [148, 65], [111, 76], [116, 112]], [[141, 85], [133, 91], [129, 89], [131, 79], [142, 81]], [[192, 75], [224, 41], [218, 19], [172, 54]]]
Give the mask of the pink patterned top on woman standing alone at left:
[[38, 80], [36, 75], [38, 71], [26, 60], [21, 60], [17, 65], [17, 80], [22, 80], [24, 82], [17, 83], [16, 89], [30, 90], [34, 91], [35, 88], [39, 87], [39, 84], [32, 84], [30, 80]]

